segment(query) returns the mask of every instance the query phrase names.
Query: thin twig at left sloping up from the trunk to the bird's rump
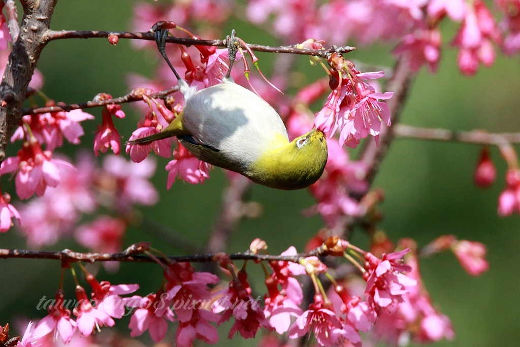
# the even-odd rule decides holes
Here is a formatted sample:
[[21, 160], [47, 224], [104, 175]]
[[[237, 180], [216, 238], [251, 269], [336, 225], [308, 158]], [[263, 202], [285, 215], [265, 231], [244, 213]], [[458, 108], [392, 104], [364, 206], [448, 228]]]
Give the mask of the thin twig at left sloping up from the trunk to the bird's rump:
[[[164, 99], [169, 94], [172, 94], [173, 92], [177, 92], [178, 90], [179, 90], [179, 87], [174, 86], [174, 87], [168, 88], [164, 91], [149, 94], [147, 96], [150, 98], [155, 98], [155, 99]], [[99, 100], [99, 101], [87, 101], [87, 102], [82, 102], [81, 104], [70, 104], [70, 105], [38, 107], [38, 108], [24, 108], [22, 110], [22, 114], [38, 114], [38, 113], [59, 112], [59, 111], [69, 112], [71, 110], [76, 110], [76, 109], [99, 107], [99, 106], [112, 105], [112, 104], [123, 104], [125, 102], [134, 102], [134, 101], [139, 101], [139, 100], [142, 100], [142, 95], [130, 92], [119, 98]]]

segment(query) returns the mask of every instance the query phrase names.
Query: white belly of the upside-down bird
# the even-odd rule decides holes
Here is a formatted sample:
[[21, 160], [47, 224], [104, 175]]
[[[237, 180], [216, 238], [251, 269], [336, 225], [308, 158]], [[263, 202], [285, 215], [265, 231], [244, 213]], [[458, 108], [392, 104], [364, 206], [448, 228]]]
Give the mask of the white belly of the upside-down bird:
[[289, 143], [287, 130], [275, 109], [233, 82], [192, 94], [186, 100], [183, 118], [194, 139], [245, 165], [279, 143], [281, 137]]

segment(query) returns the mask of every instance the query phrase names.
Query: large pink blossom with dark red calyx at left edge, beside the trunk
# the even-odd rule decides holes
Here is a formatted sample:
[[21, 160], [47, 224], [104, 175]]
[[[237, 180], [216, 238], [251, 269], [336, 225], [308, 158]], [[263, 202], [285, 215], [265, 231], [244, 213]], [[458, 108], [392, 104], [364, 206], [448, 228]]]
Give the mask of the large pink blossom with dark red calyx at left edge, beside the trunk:
[[47, 186], [56, 187], [61, 171], [76, 169], [70, 163], [53, 159], [50, 151], [43, 151], [33, 137], [26, 141], [16, 157], [9, 157], [0, 165], [0, 174], [17, 172], [15, 185], [20, 199], [29, 199], [33, 194], [41, 197]]

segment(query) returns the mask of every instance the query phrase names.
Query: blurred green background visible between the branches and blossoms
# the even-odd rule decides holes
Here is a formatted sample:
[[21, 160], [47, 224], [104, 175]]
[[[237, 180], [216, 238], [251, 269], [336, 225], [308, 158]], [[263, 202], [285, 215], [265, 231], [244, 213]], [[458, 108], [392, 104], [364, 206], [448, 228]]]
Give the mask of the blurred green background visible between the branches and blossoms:
[[[115, 0], [61, 1], [51, 27], [55, 30], [129, 30], [133, 4]], [[231, 28], [236, 28], [246, 42], [275, 43], [272, 37], [247, 29], [240, 20], [228, 22], [226, 29]], [[446, 25], [443, 30], [447, 34], [444, 45], [448, 46], [455, 28]], [[391, 48], [359, 48], [348, 58], [392, 66], [393, 59], [388, 54]], [[476, 76], [466, 78], [458, 71], [456, 54], [454, 49], [447, 47], [436, 74], [424, 70], [419, 73], [411, 88], [402, 123], [451, 130], [483, 128], [490, 132], [520, 132], [518, 57], [506, 58], [499, 54], [492, 68], [481, 68]], [[269, 56], [263, 59], [269, 61]], [[51, 42], [44, 49], [38, 69], [45, 76], [43, 91], [57, 101], [72, 103], [90, 100], [100, 92], [124, 95], [128, 92], [127, 73], [134, 71], [151, 76], [157, 62], [153, 53], [135, 50], [128, 40], [120, 40], [117, 46], [102, 39], [61, 40]], [[309, 69], [308, 65], [305, 69], [309, 81], [322, 73], [319, 69]], [[128, 105], [123, 109], [127, 118], [115, 120], [115, 125], [127, 138], [139, 115]], [[97, 119], [84, 122], [86, 135], [82, 144], [92, 148], [100, 110], [90, 109], [89, 112]], [[73, 156], [75, 148], [65, 147]], [[455, 234], [460, 239], [480, 241], [488, 247], [490, 270], [478, 278], [467, 275], [452, 254], [421, 261], [424, 281], [433, 302], [451, 318], [456, 330], [454, 341], [442, 341], [435, 346], [506, 347], [520, 344], [520, 220], [518, 215], [497, 216], [497, 199], [504, 186], [506, 167], [496, 149], [491, 152], [498, 168], [497, 182], [487, 190], [480, 190], [473, 184], [479, 151], [479, 146], [474, 145], [396, 140], [374, 184], [384, 189], [386, 196], [382, 204], [384, 220], [380, 226], [394, 241], [412, 237], [419, 245], [425, 245], [439, 235]], [[161, 199], [154, 207], [142, 208], [142, 213], [203, 246], [219, 213], [222, 188], [226, 183], [223, 172], [220, 169], [212, 171], [211, 179], [203, 185], [177, 183], [166, 191], [167, 173], [163, 167], [167, 160], [161, 158], [158, 163], [153, 183], [158, 187]], [[11, 186], [2, 183], [4, 190], [14, 191], [12, 182]], [[230, 240], [229, 252], [246, 250], [255, 237], [266, 240], [273, 254], [291, 245], [303, 250], [306, 240], [322, 227], [318, 216], [301, 216], [301, 211], [314, 203], [305, 190], [277, 191], [255, 185], [251, 200], [263, 205], [263, 213], [258, 219], [245, 220], [239, 225]], [[125, 235], [125, 247], [145, 240], [167, 254], [179, 254], [178, 249], [149, 235], [145, 229], [129, 230]], [[366, 246], [366, 238], [359, 233], [353, 240]], [[16, 230], [10, 230], [0, 235], [0, 245], [2, 248], [24, 248], [24, 240]], [[51, 249], [63, 248], [81, 249], [67, 240]], [[36, 311], [35, 306], [43, 295], [54, 295], [59, 266], [56, 261], [0, 260], [0, 324], [13, 322], [20, 316], [43, 317], [46, 313]], [[249, 271], [254, 285], [262, 288], [259, 287], [262, 285], [261, 269], [250, 265]], [[101, 269], [98, 279], [107, 279], [114, 284], [139, 283], [139, 294], [145, 295], [160, 285], [161, 269], [153, 264], [122, 264], [115, 275]], [[66, 286], [72, 295], [70, 275], [66, 278]], [[125, 335], [129, 333], [127, 322], [123, 319], [116, 324]], [[230, 343], [226, 335], [227, 330], [221, 334], [219, 345]], [[143, 341], [149, 344], [147, 333]], [[232, 340], [233, 345], [256, 342], [241, 337]]]

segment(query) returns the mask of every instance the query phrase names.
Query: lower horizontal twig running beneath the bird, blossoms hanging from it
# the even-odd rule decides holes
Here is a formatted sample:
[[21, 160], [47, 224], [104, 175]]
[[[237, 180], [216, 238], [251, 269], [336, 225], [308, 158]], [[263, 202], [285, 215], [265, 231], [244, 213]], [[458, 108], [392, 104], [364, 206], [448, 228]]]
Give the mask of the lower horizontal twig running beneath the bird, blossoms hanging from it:
[[[235, 253], [229, 254], [231, 260], [261, 260], [261, 261], [287, 261], [298, 263], [300, 260], [307, 258], [308, 256], [317, 256], [321, 254], [321, 249], [310, 251], [308, 253], [301, 253], [295, 255], [269, 255], [269, 254], [252, 254], [252, 253]], [[191, 263], [204, 263], [204, 262], [215, 262], [220, 259], [219, 254], [196, 254], [196, 255], [185, 255], [185, 256], [169, 256], [168, 259], [178, 262], [191, 262]], [[221, 254], [220, 254], [221, 255]], [[48, 259], [48, 260], [60, 260], [64, 262], [108, 262], [108, 261], [119, 261], [119, 262], [155, 262], [151, 257], [141, 254], [133, 254], [129, 252], [121, 253], [80, 253], [74, 252], [70, 249], [64, 249], [62, 251], [33, 251], [24, 249], [0, 249], [0, 259], [17, 258], [17, 259]]]

